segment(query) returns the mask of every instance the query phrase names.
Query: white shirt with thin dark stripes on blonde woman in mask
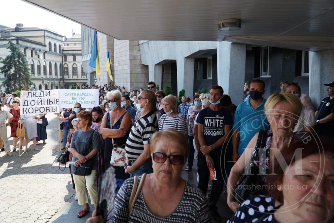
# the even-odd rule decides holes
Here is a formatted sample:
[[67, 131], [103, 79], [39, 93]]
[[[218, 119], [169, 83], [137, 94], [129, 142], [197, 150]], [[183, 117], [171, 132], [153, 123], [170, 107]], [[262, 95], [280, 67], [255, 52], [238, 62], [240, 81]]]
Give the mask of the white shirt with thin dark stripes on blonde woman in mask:
[[161, 116], [161, 119], [159, 119], [159, 131], [165, 129], [175, 129], [181, 133], [185, 133], [187, 131], [186, 120], [180, 113], [172, 118], [164, 114]]

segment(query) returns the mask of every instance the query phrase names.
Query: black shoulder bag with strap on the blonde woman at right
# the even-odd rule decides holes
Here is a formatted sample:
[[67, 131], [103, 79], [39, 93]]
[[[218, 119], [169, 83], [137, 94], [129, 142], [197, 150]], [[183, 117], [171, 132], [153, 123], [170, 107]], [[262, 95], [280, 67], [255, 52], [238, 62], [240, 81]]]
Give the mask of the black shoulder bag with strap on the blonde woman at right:
[[266, 170], [263, 167], [259, 168], [256, 166], [254, 161], [259, 161], [260, 154], [265, 154], [266, 151], [264, 147], [266, 146], [267, 137], [267, 132], [260, 130], [259, 137], [254, 148], [255, 152], [253, 153], [251, 161], [235, 185], [234, 198], [239, 204], [242, 204], [251, 195], [266, 194], [266, 191], [263, 190], [262, 187], [262, 176], [266, 173]]

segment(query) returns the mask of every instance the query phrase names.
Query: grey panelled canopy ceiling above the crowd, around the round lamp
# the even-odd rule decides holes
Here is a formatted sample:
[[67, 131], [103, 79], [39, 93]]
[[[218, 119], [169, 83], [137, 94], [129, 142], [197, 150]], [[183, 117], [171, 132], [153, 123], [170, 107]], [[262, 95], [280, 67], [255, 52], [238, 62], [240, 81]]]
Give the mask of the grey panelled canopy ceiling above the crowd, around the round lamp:
[[[26, 2], [117, 39], [227, 40], [249, 44], [269, 42], [280, 47], [305, 50], [334, 49], [333, 0], [28, 0]], [[240, 30], [218, 30], [219, 20], [231, 18], [241, 19]], [[299, 41], [299, 38], [302, 41]]]

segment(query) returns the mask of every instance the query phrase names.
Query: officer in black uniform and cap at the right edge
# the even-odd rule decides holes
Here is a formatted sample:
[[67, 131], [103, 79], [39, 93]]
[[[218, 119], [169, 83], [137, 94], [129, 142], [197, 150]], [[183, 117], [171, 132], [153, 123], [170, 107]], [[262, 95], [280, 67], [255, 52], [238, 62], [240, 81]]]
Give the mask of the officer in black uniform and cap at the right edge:
[[322, 99], [315, 112], [316, 132], [319, 135], [334, 136], [334, 81], [325, 84], [329, 97]]

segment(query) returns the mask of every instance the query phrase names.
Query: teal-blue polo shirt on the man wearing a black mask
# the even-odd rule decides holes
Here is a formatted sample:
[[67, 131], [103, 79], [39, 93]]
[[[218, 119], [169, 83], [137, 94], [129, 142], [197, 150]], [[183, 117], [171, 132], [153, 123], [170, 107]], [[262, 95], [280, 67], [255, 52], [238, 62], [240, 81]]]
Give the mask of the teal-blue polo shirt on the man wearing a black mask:
[[266, 99], [255, 110], [253, 109], [250, 99], [238, 105], [233, 116], [233, 129], [239, 130], [240, 142], [238, 153], [241, 155], [247, 147], [249, 141], [260, 132], [261, 129], [269, 130], [270, 125], [265, 115], [264, 105]]

